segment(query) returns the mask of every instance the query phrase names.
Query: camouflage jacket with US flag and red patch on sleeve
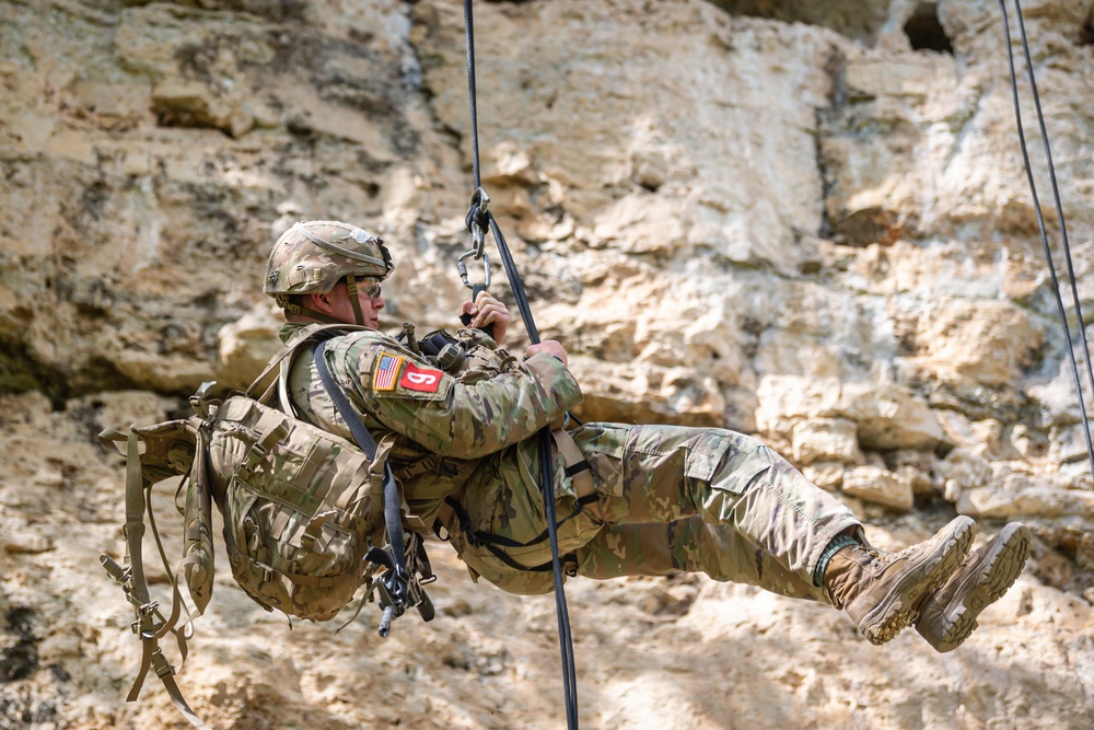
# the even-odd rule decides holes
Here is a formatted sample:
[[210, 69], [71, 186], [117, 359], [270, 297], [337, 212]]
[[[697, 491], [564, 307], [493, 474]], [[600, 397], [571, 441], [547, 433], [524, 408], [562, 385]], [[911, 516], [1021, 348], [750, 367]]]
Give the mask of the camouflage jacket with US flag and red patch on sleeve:
[[[301, 326], [284, 325], [281, 338], [287, 340]], [[452, 496], [476, 529], [498, 529], [499, 503], [516, 495], [514, 502], [526, 505], [538, 496], [533, 437], [580, 403], [581, 390], [550, 355], [519, 362], [481, 333], [462, 329], [457, 337], [475, 356], [474, 367], [458, 376], [372, 329], [333, 338], [326, 347], [327, 364], [376, 443], [389, 449], [388, 464], [414, 515], [432, 524], [444, 498]], [[289, 394], [298, 415], [352, 440], [319, 382], [311, 352], [293, 364]], [[556, 494], [560, 501], [571, 500], [572, 487], [557, 454], [555, 462]], [[538, 519], [517, 514], [512, 506], [503, 508], [516, 523], [515, 540], [532, 540], [544, 529], [539, 502]]]

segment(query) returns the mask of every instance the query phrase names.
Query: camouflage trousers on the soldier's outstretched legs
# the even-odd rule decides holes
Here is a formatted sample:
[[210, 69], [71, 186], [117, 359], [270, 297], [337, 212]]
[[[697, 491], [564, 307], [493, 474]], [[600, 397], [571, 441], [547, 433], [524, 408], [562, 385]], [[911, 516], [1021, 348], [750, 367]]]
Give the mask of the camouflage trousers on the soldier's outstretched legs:
[[[812, 580], [821, 554], [840, 532], [861, 532], [850, 510], [771, 449], [741, 433], [586, 424], [571, 436], [590, 463], [597, 501], [559, 528], [570, 575], [615, 578], [685, 570], [826, 600]], [[563, 517], [574, 511], [573, 488], [559, 475], [556, 487]], [[493, 534], [531, 540], [536, 534], [532, 530], [539, 532], [543, 525], [513, 532], [520, 517], [513, 518], [514, 512], [534, 511], [527, 508], [537, 496], [523, 495], [526, 509], [510, 509], [503, 519], [480, 524]], [[473, 572], [504, 590], [542, 593], [552, 588], [549, 571], [515, 570], [469, 544], [458, 529], [453, 545]], [[545, 543], [505, 552], [525, 566], [550, 558]]]

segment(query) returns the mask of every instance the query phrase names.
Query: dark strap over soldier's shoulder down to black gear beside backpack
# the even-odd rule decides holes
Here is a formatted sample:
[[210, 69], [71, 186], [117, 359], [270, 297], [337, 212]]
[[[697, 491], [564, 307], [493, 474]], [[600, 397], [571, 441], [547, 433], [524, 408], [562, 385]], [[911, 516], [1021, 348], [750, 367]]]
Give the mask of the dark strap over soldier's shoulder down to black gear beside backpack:
[[[323, 386], [330, 395], [335, 408], [341, 414], [342, 420], [346, 421], [350, 432], [353, 434], [353, 440], [357, 441], [361, 451], [372, 460], [370, 472], [373, 478], [375, 478], [379, 476], [376, 470], [381, 467], [381, 464], [377, 463], [380, 460], [376, 459], [376, 441], [369, 433], [369, 429], [360, 416], [353, 410], [353, 406], [350, 404], [349, 398], [346, 397], [338, 382], [334, 379], [334, 375], [330, 374], [324, 355], [326, 352], [326, 340], [324, 340], [316, 345], [312, 351], [315, 359], [315, 370], [318, 372]], [[392, 621], [401, 616], [407, 607], [414, 605], [414, 602], [410, 591], [411, 576], [407, 570], [406, 547], [403, 536], [403, 511], [400, 509], [403, 500], [399, 497], [398, 486], [395, 484], [395, 475], [392, 474], [391, 465], [386, 459], [382, 461], [384, 523], [387, 526], [389, 551], [373, 547], [365, 555], [365, 558], [387, 568], [382, 579], [384, 591], [382, 592], [383, 600], [381, 602], [382, 604], [386, 603], [386, 605], [384, 605], [383, 618], [380, 621], [380, 635], [386, 638], [391, 631]], [[420, 593], [421, 591], [419, 589], [415, 592]]]

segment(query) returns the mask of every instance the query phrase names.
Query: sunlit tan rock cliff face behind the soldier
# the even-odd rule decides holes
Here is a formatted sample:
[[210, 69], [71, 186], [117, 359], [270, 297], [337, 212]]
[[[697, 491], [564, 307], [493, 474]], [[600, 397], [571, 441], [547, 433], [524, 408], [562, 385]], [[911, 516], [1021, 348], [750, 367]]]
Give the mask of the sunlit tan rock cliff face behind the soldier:
[[[454, 326], [459, 5], [0, 4], [0, 726], [183, 727], [154, 679], [123, 702], [137, 647], [96, 567], [120, 557], [123, 468], [93, 436], [248, 384], [277, 346], [260, 286], [281, 231], [374, 230], [387, 322]], [[1073, 274], [1027, 102], [1023, 120], [1078, 346], [1094, 3], [1024, 10]], [[998, 3], [480, 2], [476, 38], [482, 184], [571, 352], [575, 415], [756, 433], [882, 547], [955, 511], [1038, 537], [945, 657], [706, 578], [571, 582], [582, 725], [1087, 727], [1094, 479]], [[195, 706], [218, 728], [560, 727], [549, 599], [473, 587], [446, 549], [435, 624], [386, 642], [371, 606], [290, 633], [219, 577], [181, 677]]]

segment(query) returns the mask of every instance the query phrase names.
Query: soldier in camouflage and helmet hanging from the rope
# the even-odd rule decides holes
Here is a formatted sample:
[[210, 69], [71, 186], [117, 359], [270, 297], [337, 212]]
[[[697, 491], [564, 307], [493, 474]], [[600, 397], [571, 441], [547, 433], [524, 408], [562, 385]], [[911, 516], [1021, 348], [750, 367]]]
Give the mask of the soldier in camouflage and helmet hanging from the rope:
[[[701, 571], [845, 610], [883, 644], [910, 624], [938, 651], [976, 628], [1013, 583], [1029, 532], [1006, 525], [969, 553], [958, 517], [898, 553], [869, 545], [861, 523], [759, 441], [723, 429], [585, 424], [563, 430], [581, 390], [555, 340], [517, 360], [498, 347], [509, 312], [482, 292], [464, 302], [455, 349], [423, 355], [412, 334], [379, 331], [381, 282], [393, 268], [379, 236], [336, 221], [294, 224], [269, 257], [264, 291], [283, 309], [281, 336], [316, 322], [348, 326], [327, 366], [387, 454], [411, 512], [437, 524], [467, 565], [503, 590], [554, 588], [537, 440], [554, 428], [560, 555], [568, 576]], [[492, 325], [492, 338], [479, 328]], [[311, 355], [294, 362], [298, 415], [351, 438]]]

